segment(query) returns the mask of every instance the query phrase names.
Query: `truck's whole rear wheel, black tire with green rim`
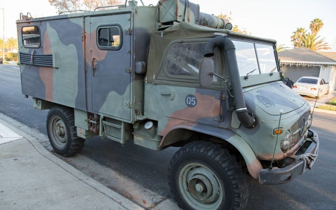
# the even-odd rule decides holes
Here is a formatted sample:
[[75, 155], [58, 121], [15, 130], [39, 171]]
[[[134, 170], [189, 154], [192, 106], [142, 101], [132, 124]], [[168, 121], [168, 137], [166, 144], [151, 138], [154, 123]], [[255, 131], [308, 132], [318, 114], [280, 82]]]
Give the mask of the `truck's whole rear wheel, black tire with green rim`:
[[47, 116], [47, 133], [54, 151], [64, 157], [76, 155], [84, 146], [85, 139], [77, 136], [74, 110], [55, 106]]

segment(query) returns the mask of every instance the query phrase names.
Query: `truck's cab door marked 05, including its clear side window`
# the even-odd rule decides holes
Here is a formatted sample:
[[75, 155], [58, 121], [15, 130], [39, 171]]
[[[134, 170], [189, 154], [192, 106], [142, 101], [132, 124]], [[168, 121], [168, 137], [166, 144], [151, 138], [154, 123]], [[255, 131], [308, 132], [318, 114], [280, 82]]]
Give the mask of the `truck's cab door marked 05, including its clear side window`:
[[[162, 114], [169, 117], [166, 127], [189, 121], [218, 126], [221, 90], [201, 88], [198, 73], [207, 40], [177, 40], [168, 52], [154, 83]], [[215, 57], [212, 57], [215, 59]], [[219, 85], [217, 78], [213, 84]]]

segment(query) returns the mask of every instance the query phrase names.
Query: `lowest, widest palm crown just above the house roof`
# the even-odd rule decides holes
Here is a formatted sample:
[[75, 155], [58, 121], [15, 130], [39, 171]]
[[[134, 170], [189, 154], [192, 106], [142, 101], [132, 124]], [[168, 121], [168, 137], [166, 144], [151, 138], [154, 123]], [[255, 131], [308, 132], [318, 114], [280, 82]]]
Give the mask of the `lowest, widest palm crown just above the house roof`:
[[328, 47], [328, 43], [324, 41], [324, 38], [318, 40], [319, 38], [320, 36], [317, 36], [317, 34], [308, 33], [303, 35], [299, 42], [294, 42], [294, 46], [296, 45], [297, 47], [306, 47], [311, 50], [330, 49], [330, 47]]

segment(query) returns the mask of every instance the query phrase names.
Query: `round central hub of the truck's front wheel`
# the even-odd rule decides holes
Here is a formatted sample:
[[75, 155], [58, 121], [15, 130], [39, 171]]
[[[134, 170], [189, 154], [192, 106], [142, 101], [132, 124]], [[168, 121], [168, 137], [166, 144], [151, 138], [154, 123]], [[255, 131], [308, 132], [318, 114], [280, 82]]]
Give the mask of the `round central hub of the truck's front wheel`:
[[188, 181], [188, 188], [192, 196], [200, 200], [209, 198], [212, 193], [210, 180], [201, 174], [191, 177]]

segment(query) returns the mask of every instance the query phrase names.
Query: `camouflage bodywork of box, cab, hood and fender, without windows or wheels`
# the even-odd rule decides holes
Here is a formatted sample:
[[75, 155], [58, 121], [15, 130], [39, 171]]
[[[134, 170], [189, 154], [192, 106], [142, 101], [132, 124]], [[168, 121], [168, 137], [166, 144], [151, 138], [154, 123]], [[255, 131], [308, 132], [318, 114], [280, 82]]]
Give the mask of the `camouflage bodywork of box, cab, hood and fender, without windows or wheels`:
[[[271, 45], [275, 41], [193, 25], [199, 24], [196, 23], [199, 10], [194, 6], [189, 8], [186, 22], [194, 19], [195, 23], [182, 22], [169, 27], [169, 23], [156, 22], [158, 8], [128, 7], [18, 20], [20, 52], [35, 50], [35, 54], [51, 54], [57, 51], [60, 54], [60, 68], [21, 65], [23, 94], [129, 123], [135, 122], [136, 115], [144, 115], [158, 122], [161, 148], [183, 139], [182, 136], [169, 138], [176, 129], [218, 137], [240, 151], [254, 178], [262, 168], [258, 159], [270, 160], [275, 146], [276, 160], [290, 155], [295, 146], [283, 153], [280, 140], [275, 145], [273, 130], [278, 127], [279, 109], [285, 111], [281, 127], [286, 131], [310, 107], [294, 91], [282, 85], [279, 73], [272, 77], [269, 74], [251, 75], [249, 81], [242, 80], [247, 108], [259, 122], [255, 128], [247, 129], [242, 125], [232, 127], [233, 113], [227, 111], [225, 100], [232, 105], [233, 99], [218, 97], [224, 89], [222, 82], [210, 88], [200, 88], [197, 81], [172, 79], [163, 70], [169, 46], [184, 39], [209, 40], [218, 36], [214, 33], [220, 33]], [[121, 26], [123, 46], [120, 50], [99, 49], [96, 44], [98, 27], [113, 24]], [[40, 29], [40, 48], [23, 47], [22, 27], [32, 25]], [[165, 27], [167, 29], [163, 30]], [[145, 75], [135, 74], [135, 62], [146, 62], [148, 46], [147, 72]], [[223, 55], [222, 50], [219, 51]], [[219, 73], [230, 84], [225, 56], [222, 58]], [[126, 72], [127, 69], [132, 71]], [[194, 107], [187, 106], [188, 95], [197, 99]], [[129, 107], [125, 106], [127, 102]], [[279, 137], [281, 139], [283, 135]]]

